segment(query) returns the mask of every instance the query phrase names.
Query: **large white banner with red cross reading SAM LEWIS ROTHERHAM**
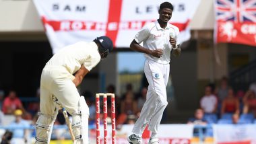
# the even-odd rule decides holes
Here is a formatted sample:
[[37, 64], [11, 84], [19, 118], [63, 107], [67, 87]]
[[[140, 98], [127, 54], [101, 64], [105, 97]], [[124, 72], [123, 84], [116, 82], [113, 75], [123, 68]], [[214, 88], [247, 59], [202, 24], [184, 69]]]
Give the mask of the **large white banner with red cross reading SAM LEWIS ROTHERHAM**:
[[[97, 36], [109, 36], [115, 47], [129, 47], [147, 22], [158, 19], [160, 3], [166, 0], [33, 0], [53, 52], [67, 44]], [[179, 27], [179, 41], [190, 38], [188, 28], [199, 0], [171, 0], [171, 24]]]

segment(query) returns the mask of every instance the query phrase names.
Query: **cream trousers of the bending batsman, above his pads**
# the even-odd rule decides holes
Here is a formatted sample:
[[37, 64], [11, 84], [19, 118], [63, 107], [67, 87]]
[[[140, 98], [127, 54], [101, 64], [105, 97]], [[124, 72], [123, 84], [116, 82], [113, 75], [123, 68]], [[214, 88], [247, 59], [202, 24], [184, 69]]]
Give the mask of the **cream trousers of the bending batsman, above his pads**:
[[69, 112], [78, 112], [79, 93], [72, 79], [74, 76], [65, 67], [47, 66], [42, 70], [40, 81], [40, 112], [53, 116], [53, 96]]

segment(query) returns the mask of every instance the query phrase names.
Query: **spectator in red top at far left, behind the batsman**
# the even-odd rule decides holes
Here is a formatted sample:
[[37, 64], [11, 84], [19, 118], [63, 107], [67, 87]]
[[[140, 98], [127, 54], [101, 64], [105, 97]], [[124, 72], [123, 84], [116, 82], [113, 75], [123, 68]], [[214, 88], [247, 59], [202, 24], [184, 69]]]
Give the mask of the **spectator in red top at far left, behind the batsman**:
[[22, 102], [16, 96], [16, 92], [11, 90], [9, 95], [3, 100], [3, 113], [4, 114], [13, 114], [13, 112], [17, 109], [25, 112], [24, 107], [22, 106]]

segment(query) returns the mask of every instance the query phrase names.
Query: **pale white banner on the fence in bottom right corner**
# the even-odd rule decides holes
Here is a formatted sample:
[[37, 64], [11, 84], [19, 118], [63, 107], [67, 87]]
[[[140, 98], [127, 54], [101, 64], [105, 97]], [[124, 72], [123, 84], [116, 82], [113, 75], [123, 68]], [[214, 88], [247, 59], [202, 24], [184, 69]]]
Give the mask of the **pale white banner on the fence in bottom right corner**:
[[256, 125], [216, 124], [214, 139], [217, 144], [256, 144]]

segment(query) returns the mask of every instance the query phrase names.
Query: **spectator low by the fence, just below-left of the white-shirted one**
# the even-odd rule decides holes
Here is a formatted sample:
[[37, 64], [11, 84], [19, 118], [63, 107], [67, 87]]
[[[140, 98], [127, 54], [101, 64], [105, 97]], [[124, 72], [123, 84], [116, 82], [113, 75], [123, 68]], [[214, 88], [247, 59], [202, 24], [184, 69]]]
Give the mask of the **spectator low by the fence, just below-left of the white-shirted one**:
[[188, 124], [207, 124], [205, 118], [203, 118], [203, 110], [201, 108], [195, 110], [195, 116], [193, 118], [189, 118], [187, 121]]

